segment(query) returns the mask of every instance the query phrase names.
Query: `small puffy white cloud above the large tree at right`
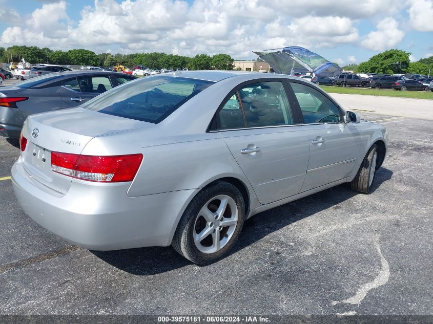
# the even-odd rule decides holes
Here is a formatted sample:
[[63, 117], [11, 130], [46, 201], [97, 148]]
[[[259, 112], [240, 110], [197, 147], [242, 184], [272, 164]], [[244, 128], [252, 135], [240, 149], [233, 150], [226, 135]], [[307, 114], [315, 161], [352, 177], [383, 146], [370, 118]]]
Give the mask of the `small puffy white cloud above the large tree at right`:
[[388, 50], [404, 37], [404, 32], [398, 29], [397, 20], [391, 17], [383, 18], [376, 28], [377, 31], [369, 32], [361, 41], [363, 47], [374, 51]]

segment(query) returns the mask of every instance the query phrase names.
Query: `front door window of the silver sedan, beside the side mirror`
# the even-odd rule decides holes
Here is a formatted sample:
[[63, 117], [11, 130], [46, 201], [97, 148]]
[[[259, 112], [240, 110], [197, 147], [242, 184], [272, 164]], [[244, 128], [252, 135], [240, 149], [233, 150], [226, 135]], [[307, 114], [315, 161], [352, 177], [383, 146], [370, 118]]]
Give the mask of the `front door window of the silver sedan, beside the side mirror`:
[[324, 94], [308, 85], [290, 82], [305, 124], [340, 122], [338, 107]]

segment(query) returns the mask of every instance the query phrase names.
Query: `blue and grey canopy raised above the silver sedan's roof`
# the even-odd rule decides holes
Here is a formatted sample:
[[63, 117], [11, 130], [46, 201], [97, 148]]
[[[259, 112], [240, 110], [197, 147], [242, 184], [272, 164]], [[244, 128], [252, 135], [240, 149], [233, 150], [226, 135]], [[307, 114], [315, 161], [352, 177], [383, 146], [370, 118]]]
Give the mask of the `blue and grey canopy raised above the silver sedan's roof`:
[[277, 73], [295, 74], [310, 72], [316, 76], [336, 76], [341, 74], [341, 68], [329, 62], [319, 54], [303, 47], [289, 46], [282, 49], [253, 51], [261, 59], [268, 62]]

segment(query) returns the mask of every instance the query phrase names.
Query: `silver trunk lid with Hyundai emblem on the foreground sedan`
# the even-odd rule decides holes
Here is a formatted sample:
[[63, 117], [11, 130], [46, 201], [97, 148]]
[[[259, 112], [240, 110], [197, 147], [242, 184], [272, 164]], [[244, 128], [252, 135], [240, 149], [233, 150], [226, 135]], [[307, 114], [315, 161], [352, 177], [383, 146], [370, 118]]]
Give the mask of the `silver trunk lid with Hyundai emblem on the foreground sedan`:
[[65, 195], [72, 178], [52, 170], [51, 152], [80, 154], [94, 137], [151, 125], [81, 108], [32, 115], [23, 130], [23, 164], [35, 180]]

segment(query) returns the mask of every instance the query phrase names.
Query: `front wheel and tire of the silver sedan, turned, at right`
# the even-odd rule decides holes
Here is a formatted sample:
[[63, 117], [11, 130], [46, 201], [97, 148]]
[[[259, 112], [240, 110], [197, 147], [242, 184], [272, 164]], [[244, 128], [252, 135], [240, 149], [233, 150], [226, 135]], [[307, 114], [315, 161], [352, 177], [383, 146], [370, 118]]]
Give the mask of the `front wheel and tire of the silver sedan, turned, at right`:
[[377, 144], [373, 144], [368, 150], [356, 177], [350, 183], [352, 190], [369, 193], [376, 176], [377, 168]]

